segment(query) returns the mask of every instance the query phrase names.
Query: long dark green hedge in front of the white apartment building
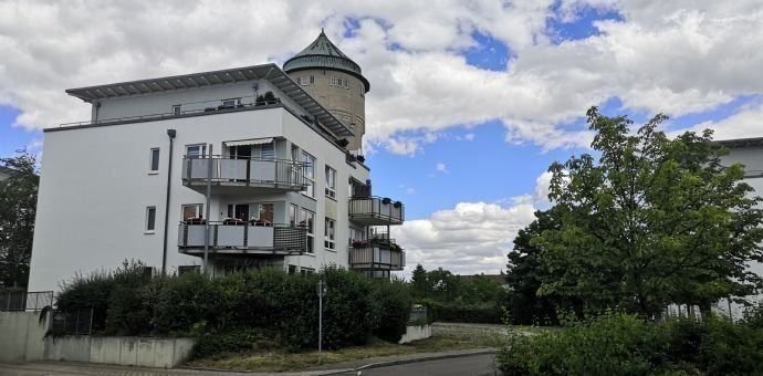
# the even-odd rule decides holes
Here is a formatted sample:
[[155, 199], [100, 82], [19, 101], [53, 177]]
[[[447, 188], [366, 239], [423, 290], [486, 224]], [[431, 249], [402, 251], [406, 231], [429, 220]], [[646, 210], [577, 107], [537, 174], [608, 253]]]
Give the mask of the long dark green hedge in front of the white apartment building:
[[197, 354], [206, 355], [215, 353], [211, 348], [249, 348], [242, 343], [261, 333], [275, 333], [288, 349], [317, 347], [318, 279], [328, 286], [325, 348], [363, 345], [372, 335], [397, 342], [411, 310], [405, 283], [333, 267], [309, 275], [262, 270], [215, 279], [198, 273], [151, 279], [140, 265], [75, 278], [60, 294], [59, 309], [93, 307], [103, 323], [97, 332], [104, 334], [198, 336]]

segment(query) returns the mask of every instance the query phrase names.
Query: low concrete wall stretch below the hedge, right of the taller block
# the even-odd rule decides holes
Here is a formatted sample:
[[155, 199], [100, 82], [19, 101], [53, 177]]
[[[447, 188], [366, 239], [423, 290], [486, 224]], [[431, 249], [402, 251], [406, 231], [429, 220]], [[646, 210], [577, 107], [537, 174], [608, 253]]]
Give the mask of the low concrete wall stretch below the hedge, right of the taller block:
[[67, 335], [44, 342], [45, 361], [173, 368], [188, 358], [195, 340]]

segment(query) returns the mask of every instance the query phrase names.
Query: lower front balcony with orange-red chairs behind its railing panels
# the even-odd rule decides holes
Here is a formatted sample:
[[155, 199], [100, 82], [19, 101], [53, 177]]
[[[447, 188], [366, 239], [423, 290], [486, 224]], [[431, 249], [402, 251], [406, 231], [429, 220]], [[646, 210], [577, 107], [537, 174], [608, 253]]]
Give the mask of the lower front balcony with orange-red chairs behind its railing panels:
[[[307, 248], [307, 228], [244, 221], [209, 223], [209, 250], [217, 254], [302, 254]], [[203, 221], [180, 222], [180, 252], [203, 254]]]

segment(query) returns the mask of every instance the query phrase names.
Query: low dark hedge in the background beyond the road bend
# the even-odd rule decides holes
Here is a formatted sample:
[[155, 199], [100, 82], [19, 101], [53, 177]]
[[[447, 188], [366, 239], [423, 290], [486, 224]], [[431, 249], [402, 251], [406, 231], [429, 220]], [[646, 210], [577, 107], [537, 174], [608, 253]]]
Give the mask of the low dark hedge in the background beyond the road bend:
[[503, 309], [494, 303], [462, 304], [432, 300], [422, 300], [421, 302], [427, 306], [427, 314], [432, 322], [480, 324], [500, 324], [503, 322]]

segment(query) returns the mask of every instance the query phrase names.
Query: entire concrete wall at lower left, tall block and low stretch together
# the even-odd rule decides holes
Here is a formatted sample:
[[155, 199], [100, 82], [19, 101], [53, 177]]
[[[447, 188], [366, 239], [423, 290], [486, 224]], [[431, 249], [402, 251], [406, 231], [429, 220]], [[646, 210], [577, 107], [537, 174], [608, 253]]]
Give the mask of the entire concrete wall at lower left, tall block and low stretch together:
[[173, 368], [188, 358], [195, 344], [192, 338], [45, 338], [50, 314], [46, 318], [40, 322], [39, 312], [0, 312], [0, 363], [72, 361]]

